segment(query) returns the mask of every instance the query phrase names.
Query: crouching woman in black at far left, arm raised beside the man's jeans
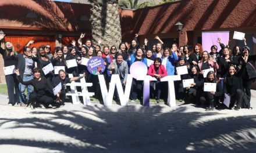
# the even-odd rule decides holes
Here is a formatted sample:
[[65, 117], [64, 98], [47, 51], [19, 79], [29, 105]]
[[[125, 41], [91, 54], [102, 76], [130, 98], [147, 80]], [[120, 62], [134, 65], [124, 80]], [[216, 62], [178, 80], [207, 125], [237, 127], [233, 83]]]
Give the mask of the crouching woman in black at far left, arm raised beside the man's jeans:
[[[35, 108], [35, 101], [42, 104], [45, 108], [49, 108], [49, 104], [54, 103], [54, 99], [52, 98], [54, 97], [52, 93], [52, 89], [54, 89], [54, 87], [51, 85], [51, 82], [49, 82], [48, 79], [41, 76], [40, 70], [33, 71], [34, 79], [31, 79], [30, 81], [23, 81], [23, 79], [20, 77], [19, 69], [15, 70], [15, 73], [20, 83], [23, 85], [32, 85], [34, 87], [34, 92], [30, 94], [29, 101], [29, 104], [31, 104], [33, 108]], [[51, 91], [47, 91], [47, 88], [51, 89]], [[56, 95], [56, 103], [61, 101], [59, 94], [60, 92]]]

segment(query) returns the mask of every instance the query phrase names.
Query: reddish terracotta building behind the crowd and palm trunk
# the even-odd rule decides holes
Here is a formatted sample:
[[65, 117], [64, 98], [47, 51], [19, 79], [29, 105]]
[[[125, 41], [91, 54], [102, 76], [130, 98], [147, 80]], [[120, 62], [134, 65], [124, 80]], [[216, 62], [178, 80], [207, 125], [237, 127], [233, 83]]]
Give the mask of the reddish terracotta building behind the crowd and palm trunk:
[[[165, 3], [150, 8], [130, 10], [119, 9], [122, 27], [122, 41], [130, 42], [134, 34], [144, 43], [152, 43], [155, 35], [163, 39], [166, 46], [173, 42], [194, 46], [201, 42], [202, 31], [233, 31], [246, 33], [247, 43], [255, 50], [252, 37], [256, 37], [256, 1], [254, 0], [183, 0]], [[70, 45], [81, 32], [91, 38], [90, 5], [86, 3], [53, 2], [51, 0], [1, 0], [0, 30], [5, 32], [5, 41], [11, 41], [20, 51], [31, 39], [31, 46], [49, 44]], [[175, 24], [183, 24], [183, 32], [177, 32]], [[241, 45], [233, 40], [230, 46]], [[0, 67], [3, 60], [0, 57]], [[5, 82], [0, 71], [0, 83]]]

